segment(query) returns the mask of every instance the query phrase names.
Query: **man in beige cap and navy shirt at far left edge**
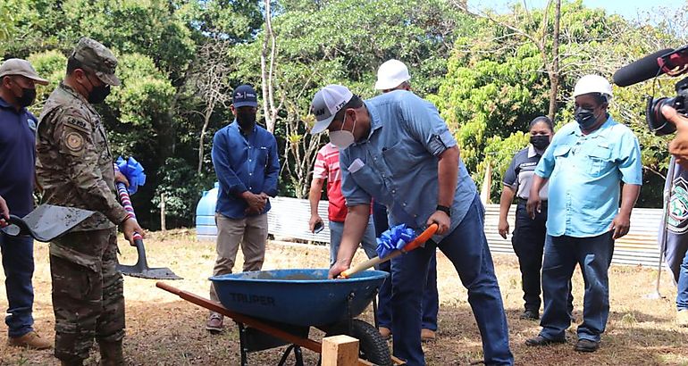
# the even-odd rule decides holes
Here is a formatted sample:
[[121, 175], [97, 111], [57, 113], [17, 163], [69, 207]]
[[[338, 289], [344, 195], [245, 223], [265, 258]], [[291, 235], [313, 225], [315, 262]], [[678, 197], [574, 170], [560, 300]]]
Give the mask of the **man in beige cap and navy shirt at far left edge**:
[[[19, 217], [33, 210], [34, 153], [37, 119], [26, 107], [36, 99], [36, 84], [47, 85], [28, 61], [9, 59], [0, 65], [0, 195]], [[33, 240], [0, 234], [8, 344], [43, 349], [52, 342], [33, 330]]]

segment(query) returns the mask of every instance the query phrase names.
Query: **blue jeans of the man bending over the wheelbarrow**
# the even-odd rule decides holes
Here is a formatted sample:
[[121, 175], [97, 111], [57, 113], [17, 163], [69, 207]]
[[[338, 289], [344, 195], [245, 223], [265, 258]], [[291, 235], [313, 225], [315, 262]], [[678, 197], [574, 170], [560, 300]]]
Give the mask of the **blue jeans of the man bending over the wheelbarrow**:
[[410, 366], [425, 364], [421, 347], [421, 302], [424, 274], [437, 247], [454, 264], [461, 283], [468, 289], [468, 303], [482, 336], [485, 363], [514, 363], [508, 346], [507, 317], [483, 231], [483, 217], [484, 209], [475, 195], [464, 220], [439, 244], [428, 241], [425, 247], [391, 261], [393, 354]]

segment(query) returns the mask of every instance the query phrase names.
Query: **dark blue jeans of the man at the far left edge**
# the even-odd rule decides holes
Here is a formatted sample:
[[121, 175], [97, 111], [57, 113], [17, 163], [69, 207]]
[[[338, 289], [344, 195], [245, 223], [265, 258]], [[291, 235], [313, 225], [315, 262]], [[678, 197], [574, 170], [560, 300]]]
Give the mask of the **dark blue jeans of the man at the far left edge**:
[[33, 330], [33, 239], [0, 233], [0, 250], [9, 303], [4, 322], [9, 337], [21, 337]]

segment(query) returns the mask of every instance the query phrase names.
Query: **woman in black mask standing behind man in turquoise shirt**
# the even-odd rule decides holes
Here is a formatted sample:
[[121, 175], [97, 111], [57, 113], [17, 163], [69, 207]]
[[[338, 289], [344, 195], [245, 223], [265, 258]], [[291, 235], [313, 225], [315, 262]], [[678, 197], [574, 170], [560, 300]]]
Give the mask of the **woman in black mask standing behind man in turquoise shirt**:
[[[540, 319], [541, 283], [540, 271], [542, 267], [542, 252], [547, 237], [545, 222], [547, 221], [547, 185], [542, 187], [541, 212], [532, 220], [525, 212], [525, 204], [531, 190], [533, 171], [542, 154], [550, 145], [554, 136], [552, 121], [548, 117], [536, 117], [530, 122], [530, 145], [516, 153], [507, 171], [504, 173], [504, 189], [499, 200], [499, 235], [507, 238], [509, 225], [507, 214], [514, 196], [518, 197], [516, 207], [516, 229], [511, 237], [514, 252], [518, 256], [521, 269], [521, 280], [524, 290], [524, 312], [521, 319]], [[569, 293], [569, 315], [573, 298]]]

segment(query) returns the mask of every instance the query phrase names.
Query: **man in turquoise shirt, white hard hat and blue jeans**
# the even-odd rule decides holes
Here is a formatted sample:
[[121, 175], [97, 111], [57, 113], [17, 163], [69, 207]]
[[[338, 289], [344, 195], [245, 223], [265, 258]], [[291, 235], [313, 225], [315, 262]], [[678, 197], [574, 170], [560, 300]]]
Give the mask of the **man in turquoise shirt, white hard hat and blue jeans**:
[[609, 116], [611, 96], [607, 79], [598, 75], [581, 78], [574, 89], [578, 123], [558, 131], [535, 170], [527, 204], [531, 216], [540, 210], [537, 192], [548, 179], [550, 182], [542, 264], [545, 308], [540, 334], [526, 345], [566, 342], [565, 330], [570, 325], [567, 284], [579, 264], [585, 295], [575, 350], [594, 352], [600, 346], [609, 314], [608, 269], [614, 240], [628, 233], [642, 185], [638, 139]]

